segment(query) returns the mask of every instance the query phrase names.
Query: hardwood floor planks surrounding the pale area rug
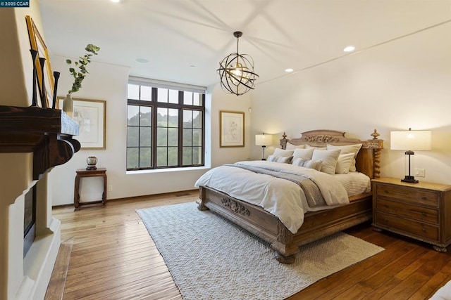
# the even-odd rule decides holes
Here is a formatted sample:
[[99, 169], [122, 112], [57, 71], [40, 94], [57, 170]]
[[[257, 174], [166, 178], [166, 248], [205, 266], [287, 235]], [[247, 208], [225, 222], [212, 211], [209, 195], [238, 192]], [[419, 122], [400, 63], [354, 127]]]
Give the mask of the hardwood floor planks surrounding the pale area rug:
[[[197, 190], [126, 200], [105, 207], [56, 207], [58, 261], [45, 299], [182, 299], [135, 209], [197, 200]], [[289, 299], [428, 299], [451, 280], [451, 254], [369, 223], [347, 233], [385, 251], [323, 278]], [[67, 266], [68, 263], [68, 266]]]

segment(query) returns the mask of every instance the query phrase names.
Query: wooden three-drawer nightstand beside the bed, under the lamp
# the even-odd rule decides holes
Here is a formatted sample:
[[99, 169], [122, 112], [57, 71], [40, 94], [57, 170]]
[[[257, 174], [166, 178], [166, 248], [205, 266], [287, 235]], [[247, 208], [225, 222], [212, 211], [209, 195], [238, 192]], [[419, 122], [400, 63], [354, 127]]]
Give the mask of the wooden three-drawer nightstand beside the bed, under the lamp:
[[373, 229], [412, 237], [446, 252], [451, 244], [451, 185], [371, 180]]

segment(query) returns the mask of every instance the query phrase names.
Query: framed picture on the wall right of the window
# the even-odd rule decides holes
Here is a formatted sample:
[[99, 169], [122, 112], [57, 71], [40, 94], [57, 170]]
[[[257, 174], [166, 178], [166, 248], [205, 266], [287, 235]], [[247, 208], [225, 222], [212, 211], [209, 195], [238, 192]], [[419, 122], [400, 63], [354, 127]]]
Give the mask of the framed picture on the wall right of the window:
[[219, 112], [219, 147], [245, 146], [245, 113]]

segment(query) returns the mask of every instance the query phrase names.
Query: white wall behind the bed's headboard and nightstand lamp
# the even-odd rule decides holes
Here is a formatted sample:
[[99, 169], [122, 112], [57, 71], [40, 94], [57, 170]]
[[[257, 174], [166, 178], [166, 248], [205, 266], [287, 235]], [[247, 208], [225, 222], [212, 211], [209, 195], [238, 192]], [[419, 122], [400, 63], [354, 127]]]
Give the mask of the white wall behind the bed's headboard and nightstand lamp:
[[[451, 183], [451, 24], [259, 84], [252, 93], [256, 129], [288, 138], [336, 129], [347, 136], [381, 133], [381, 176], [404, 177], [404, 152], [390, 150], [390, 131], [432, 130], [432, 151], [418, 151], [419, 180]], [[358, 47], [358, 45], [356, 45]], [[275, 144], [277, 143], [275, 138]], [[252, 157], [261, 150], [252, 149]]]

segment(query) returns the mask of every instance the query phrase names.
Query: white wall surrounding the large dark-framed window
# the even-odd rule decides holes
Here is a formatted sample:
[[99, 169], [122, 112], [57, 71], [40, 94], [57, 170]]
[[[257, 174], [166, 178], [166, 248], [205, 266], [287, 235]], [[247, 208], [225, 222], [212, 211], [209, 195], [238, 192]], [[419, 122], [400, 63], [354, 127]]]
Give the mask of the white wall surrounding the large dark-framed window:
[[[80, 55], [82, 55], [83, 49], [80, 49], [80, 51]], [[99, 60], [101, 51], [99, 52]], [[207, 168], [125, 174], [129, 68], [96, 63], [96, 59], [97, 57], [94, 57], [94, 62], [87, 67], [89, 74], [82, 83], [82, 89], [74, 93], [73, 97], [106, 100], [106, 149], [82, 149], [75, 153], [70, 162], [51, 171], [51, 182], [55, 185], [53, 190], [54, 205], [73, 203], [75, 171], [86, 167], [88, 156], [96, 156], [99, 159], [97, 167], [106, 167], [107, 169], [108, 185], [112, 185], [112, 190], [107, 193], [109, 200], [194, 189], [195, 181], [204, 174]], [[61, 72], [58, 95], [63, 97], [72, 84], [66, 58], [51, 56], [51, 65], [54, 71]], [[247, 159], [251, 147], [248, 133], [245, 133], [245, 148], [219, 148], [219, 111], [246, 112], [245, 128], [249, 131], [250, 117], [247, 112], [250, 103], [249, 96], [230, 96], [224, 93], [219, 86], [211, 86], [206, 93], [206, 102], [206, 155], [211, 153], [211, 159], [206, 159], [207, 167], [210, 164], [217, 166], [218, 164]], [[100, 199], [101, 178], [82, 178], [81, 185], [80, 196], [82, 200]]]

